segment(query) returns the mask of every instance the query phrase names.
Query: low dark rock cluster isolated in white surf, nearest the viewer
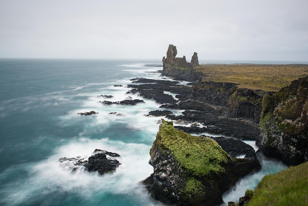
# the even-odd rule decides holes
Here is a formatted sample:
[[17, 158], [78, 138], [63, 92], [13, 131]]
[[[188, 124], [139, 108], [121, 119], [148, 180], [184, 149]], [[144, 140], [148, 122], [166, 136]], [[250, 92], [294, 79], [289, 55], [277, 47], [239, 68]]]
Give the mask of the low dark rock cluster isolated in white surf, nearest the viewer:
[[67, 168], [72, 172], [81, 169], [89, 172], [98, 171], [99, 174], [104, 174], [106, 172], [115, 172], [119, 165], [121, 165], [121, 163], [115, 159], [116, 157], [120, 157], [117, 153], [100, 149], [95, 149], [94, 153], [96, 154], [89, 157], [88, 160], [81, 157], [62, 157], [59, 159], [59, 162], [61, 163], [60, 166]]

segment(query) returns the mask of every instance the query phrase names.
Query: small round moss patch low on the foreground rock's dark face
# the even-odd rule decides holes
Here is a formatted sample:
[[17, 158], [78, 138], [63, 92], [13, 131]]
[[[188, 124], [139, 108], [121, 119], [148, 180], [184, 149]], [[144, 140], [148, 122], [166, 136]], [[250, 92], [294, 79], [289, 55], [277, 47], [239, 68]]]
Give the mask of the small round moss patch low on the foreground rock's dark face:
[[201, 199], [201, 194], [204, 192], [204, 186], [201, 181], [196, 180], [193, 177], [189, 177], [186, 180], [185, 188], [181, 190], [183, 197], [185, 199], [193, 198], [193, 201], [198, 201]]

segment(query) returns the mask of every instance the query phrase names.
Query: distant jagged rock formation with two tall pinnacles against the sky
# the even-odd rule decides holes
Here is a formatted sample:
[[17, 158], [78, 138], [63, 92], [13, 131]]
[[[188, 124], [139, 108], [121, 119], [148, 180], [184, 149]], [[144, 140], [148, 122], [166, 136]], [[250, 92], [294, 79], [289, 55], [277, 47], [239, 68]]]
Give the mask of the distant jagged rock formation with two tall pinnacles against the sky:
[[162, 75], [170, 76], [177, 80], [195, 81], [198, 80], [201, 73], [195, 72], [194, 67], [199, 66], [198, 55], [196, 52], [191, 57], [190, 63], [186, 62], [186, 57], [176, 57], [177, 47], [170, 44], [167, 50], [166, 58], [162, 58]]

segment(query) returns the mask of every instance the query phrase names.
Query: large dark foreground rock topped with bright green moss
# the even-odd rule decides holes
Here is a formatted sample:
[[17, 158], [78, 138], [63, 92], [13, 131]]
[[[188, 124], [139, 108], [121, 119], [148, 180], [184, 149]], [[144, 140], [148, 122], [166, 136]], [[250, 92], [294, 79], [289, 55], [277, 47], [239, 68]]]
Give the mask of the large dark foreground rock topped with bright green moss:
[[154, 173], [145, 184], [168, 205], [215, 206], [240, 177], [260, 168], [255, 160], [231, 158], [214, 139], [191, 136], [164, 120], [150, 155]]

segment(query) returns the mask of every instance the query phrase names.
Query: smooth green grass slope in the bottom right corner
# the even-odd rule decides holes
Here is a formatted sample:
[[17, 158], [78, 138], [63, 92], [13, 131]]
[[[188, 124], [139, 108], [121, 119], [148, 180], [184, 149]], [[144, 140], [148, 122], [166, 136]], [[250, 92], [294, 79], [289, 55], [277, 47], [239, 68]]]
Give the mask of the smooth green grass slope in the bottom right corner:
[[308, 206], [308, 162], [266, 175], [248, 206]]

